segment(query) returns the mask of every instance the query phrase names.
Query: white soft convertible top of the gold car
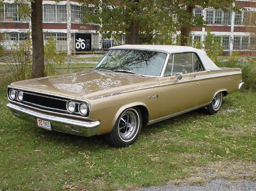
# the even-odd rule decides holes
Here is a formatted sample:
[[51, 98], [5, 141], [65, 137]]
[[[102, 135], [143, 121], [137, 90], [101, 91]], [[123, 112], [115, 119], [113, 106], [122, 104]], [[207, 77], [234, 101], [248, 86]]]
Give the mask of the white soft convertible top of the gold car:
[[169, 54], [172, 53], [182, 53], [182, 52], [194, 52], [196, 53], [202, 61], [205, 70], [216, 70], [219, 69], [218, 66], [207, 56], [204, 50], [199, 50], [189, 46], [171, 46], [171, 45], [134, 45], [127, 44], [121, 46], [114, 46], [111, 49], [136, 49], [136, 50], [156, 50], [163, 51]]

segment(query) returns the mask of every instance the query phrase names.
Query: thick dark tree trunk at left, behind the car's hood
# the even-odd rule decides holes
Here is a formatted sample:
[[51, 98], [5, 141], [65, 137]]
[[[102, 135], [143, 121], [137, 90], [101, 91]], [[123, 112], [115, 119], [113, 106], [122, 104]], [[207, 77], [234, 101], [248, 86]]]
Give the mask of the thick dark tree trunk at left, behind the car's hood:
[[44, 71], [42, 3], [42, 0], [31, 2], [31, 35], [33, 47], [32, 78], [43, 77]]

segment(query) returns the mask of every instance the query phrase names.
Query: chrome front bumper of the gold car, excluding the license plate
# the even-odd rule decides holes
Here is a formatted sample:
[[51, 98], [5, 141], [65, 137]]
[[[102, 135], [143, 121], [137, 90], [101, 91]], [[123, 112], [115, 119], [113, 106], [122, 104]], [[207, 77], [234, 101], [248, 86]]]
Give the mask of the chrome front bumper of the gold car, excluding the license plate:
[[37, 125], [37, 119], [51, 122], [51, 130], [65, 132], [74, 135], [90, 137], [96, 135], [99, 131], [99, 121], [86, 122], [79, 119], [70, 119], [54, 115], [40, 113], [34, 110], [26, 109], [12, 103], [6, 105], [17, 117]]

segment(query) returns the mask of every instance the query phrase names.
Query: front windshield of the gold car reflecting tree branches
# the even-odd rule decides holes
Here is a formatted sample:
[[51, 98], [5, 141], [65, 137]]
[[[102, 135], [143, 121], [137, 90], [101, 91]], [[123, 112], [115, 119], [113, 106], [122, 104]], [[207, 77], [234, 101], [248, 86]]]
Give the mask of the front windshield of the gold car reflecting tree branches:
[[142, 50], [109, 50], [94, 70], [159, 76], [167, 54]]

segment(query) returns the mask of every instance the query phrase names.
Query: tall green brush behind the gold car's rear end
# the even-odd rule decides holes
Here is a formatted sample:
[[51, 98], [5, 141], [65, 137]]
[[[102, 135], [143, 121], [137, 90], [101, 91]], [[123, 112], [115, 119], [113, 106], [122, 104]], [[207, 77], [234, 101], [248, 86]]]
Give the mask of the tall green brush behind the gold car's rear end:
[[241, 68], [244, 82], [243, 88], [256, 91], [256, 58], [254, 57], [237, 57], [221, 58], [216, 62], [219, 67]]

